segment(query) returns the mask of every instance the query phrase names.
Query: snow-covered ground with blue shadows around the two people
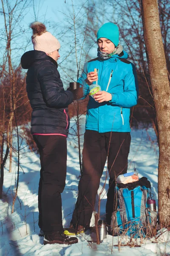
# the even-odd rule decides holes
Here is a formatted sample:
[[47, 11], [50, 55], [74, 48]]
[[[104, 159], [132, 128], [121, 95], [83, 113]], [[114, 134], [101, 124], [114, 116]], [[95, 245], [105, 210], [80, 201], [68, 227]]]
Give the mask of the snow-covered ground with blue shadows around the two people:
[[[82, 120], [81, 133], [84, 132], [84, 121]], [[71, 122], [71, 126], [74, 121]], [[70, 133], [74, 133], [74, 129], [70, 129]], [[152, 192], [155, 194], [156, 204], [157, 198], [157, 175], [158, 175], [158, 145], [156, 136], [152, 128], [147, 130], [132, 130], [131, 145], [129, 154], [128, 172], [136, 169], [139, 177], [145, 176], [150, 180]], [[38, 236], [38, 182], [40, 177], [40, 161], [39, 155], [31, 152], [28, 147], [21, 150], [20, 165], [20, 181], [18, 188], [18, 199], [15, 202], [15, 211], [11, 214], [12, 194], [14, 193], [15, 172], [17, 168], [13, 168], [13, 172], [9, 173], [6, 164], [3, 186], [3, 200], [0, 200], [0, 255], [5, 256], [152, 256], [152, 255], [170, 255], [170, 236], [166, 230], [161, 230], [159, 238], [136, 241], [140, 247], [125, 246], [130, 240], [127, 237], [112, 237], [107, 235], [104, 241], [96, 245], [91, 244], [87, 240], [91, 240], [86, 234], [78, 235], [79, 242], [73, 245], [47, 244], [43, 245], [43, 238]], [[81, 140], [81, 144], [83, 140]], [[79, 182], [79, 157], [77, 143], [73, 140], [73, 136], [68, 138], [68, 161], [67, 161], [67, 178], [65, 190], [62, 193], [62, 213], [63, 225], [67, 226], [71, 220], [74, 204], [77, 198], [78, 182]], [[17, 158], [16, 158], [17, 159]], [[13, 160], [16, 160], [15, 158]], [[15, 164], [13, 163], [13, 167]], [[24, 173], [23, 173], [24, 171]], [[106, 166], [101, 178], [99, 191], [105, 182]], [[105, 213], [107, 185], [103, 191], [101, 204], [101, 215]], [[96, 201], [97, 202], [97, 201]], [[93, 218], [91, 220], [93, 224]], [[124, 246], [118, 247], [118, 242], [122, 241]]]

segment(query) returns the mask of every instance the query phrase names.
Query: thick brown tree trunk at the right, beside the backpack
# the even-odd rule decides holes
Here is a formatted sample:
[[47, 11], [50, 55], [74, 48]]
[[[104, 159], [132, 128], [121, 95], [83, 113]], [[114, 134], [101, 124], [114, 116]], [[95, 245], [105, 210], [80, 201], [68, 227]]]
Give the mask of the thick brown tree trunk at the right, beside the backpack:
[[158, 198], [161, 226], [170, 225], [170, 84], [157, 0], [141, 0], [144, 41], [159, 131]]

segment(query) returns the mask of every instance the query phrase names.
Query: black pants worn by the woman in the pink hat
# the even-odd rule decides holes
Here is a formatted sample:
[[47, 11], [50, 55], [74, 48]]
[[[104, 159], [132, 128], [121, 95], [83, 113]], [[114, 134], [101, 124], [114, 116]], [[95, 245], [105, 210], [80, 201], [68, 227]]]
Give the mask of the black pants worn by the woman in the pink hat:
[[39, 227], [44, 231], [63, 230], [61, 193], [65, 187], [67, 142], [60, 135], [34, 135], [40, 151], [38, 190]]

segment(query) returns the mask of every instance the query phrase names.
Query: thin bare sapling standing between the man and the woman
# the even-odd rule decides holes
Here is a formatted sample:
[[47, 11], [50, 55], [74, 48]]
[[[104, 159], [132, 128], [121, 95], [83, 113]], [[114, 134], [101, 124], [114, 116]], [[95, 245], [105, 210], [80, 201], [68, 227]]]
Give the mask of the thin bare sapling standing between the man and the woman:
[[[86, 5], [87, 0], [81, 4], [75, 11], [74, 8], [74, 1], [71, 0], [71, 8], [72, 10], [66, 16], [68, 26], [69, 26], [69, 33], [68, 39], [72, 42], [71, 44], [71, 51], [67, 54], [67, 59], [65, 58], [64, 61], [68, 62], [67, 67], [62, 68], [62, 62], [59, 64], [59, 67], [62, 68], [62, 71], [66, 73], [69, 77], [70, 81], [77, 81], [79, 78], [79, 74], [81, 73], [85, 57], [87, 52], [85, 52], [85, 40], [87, 36], [87, 26], [88, 26], [88, 10], [87, 12], [84, 11], [84, 6]], [[83, 24], [83, 27], [82, 27]], [[69, 74], [69, 75], [68, 75]], [[87, 99], [81, 102], [73, 102], [69, 106], [69, 113], [71, 117], [74, 117], [77, 131], [74, 130], [74, 135], [77, 137], [78, 143], [78, 153], [79, 153], [79, 166], [80, 166], [80, 173], [82, 174], [82, 160], [81, 160], [81, 145], [80, 145], [80, 116], [83, 113], [86, 113], [87, 107]]]

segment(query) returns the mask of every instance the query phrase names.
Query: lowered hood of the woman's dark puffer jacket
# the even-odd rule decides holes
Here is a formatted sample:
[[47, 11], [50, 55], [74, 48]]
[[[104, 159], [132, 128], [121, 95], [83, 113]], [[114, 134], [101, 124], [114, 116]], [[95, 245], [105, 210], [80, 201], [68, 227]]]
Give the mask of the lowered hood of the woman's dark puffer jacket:
[[51, 60], [57, 66], [57, 62], [53, 58], [48, 56], [45, 52], [37, 50], [25, 52], [21, 57], [21, 66], [23, 69], [28, 69], [35, 61], [45, 60]]

